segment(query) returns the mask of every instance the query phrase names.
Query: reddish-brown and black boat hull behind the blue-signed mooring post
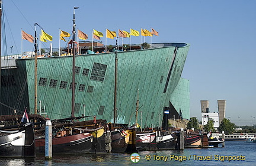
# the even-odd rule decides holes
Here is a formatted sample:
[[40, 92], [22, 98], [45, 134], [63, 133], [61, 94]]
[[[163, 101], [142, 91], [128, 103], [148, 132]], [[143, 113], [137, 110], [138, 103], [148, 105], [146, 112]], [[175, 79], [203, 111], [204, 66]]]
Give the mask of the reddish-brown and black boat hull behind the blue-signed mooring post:
[[[88, 154], [92, 148], [92, 135], [76, 134], [70, 136], [62, 136], [52, 138], [52, 153], [53, 154]], [[44, 138], [36, 139], [36, 153], [44, 154]]]

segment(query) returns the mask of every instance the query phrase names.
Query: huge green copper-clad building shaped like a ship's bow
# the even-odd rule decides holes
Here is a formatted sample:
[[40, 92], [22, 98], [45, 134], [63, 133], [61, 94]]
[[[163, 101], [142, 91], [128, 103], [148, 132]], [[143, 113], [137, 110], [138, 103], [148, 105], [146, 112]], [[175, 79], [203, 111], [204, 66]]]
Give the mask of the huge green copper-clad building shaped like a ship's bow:
[[[169, 102], [189, 119], [189, 81], [181, 78], [189, 44], [159, 43], [147, 50], [117, 53], [117, 123], [159, 126]], [[75, 61], [75, 116], [96, 115], [113, 122], [115, 53], [84, 54]], [[1, 113], [34, 113], [34, 58], [2, 69]], [[71, 116], [72, 56], [37, 58], [37, 109], [50, 119]], [[40, 114], [42, 112], [38, 112]], [[89, 120], [92, 118], [86, 118]]]

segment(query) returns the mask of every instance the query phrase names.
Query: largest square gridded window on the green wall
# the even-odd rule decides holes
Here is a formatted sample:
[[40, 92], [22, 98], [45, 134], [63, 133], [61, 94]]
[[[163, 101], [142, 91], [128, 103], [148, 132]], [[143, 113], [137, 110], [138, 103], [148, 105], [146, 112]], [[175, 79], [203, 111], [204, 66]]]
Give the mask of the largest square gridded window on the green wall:
[[107, 70], [107, 65], [101, 63], [94, 63], [92, 67], [91, 80], [98, 82], [103, 82], [105, 77], [105, 71]]

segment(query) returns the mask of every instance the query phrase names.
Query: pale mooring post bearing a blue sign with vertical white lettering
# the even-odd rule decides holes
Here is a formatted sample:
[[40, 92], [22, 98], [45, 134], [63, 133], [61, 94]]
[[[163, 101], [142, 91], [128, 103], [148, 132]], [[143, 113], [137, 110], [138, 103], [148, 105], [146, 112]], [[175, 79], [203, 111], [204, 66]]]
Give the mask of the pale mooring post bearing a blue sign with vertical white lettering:
[[52, 159], [52, 123], [46, 121], [46, 135], [45, 135], [45, 159]]

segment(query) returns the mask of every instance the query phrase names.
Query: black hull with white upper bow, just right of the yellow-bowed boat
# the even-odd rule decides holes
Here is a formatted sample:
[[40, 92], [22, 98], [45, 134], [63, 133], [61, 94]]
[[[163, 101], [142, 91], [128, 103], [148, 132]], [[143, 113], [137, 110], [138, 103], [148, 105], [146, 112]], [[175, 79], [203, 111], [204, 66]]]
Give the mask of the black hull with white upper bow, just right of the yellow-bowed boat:
[[136, 148], [138, 151], [156, 151], [156, 133], [136, 134]]

